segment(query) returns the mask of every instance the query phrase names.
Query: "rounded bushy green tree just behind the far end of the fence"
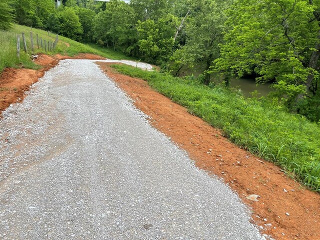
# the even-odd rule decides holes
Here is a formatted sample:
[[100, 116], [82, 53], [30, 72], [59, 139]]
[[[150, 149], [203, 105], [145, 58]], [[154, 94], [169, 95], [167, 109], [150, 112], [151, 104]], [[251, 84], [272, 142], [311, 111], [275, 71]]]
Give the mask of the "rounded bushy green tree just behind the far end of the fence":
[[81, 40], [83, 29], [79, 17], [75, 14], [72, 7], [64, 7], [62, 11], [59, 11], [58, 19], [60, 22], [60, 33], [63, 36], [77, 41]]

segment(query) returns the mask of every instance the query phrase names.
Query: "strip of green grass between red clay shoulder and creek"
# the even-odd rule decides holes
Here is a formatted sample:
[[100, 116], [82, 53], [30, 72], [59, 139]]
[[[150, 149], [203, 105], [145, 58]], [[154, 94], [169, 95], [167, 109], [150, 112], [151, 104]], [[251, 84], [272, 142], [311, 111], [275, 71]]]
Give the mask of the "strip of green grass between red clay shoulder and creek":
[[245, 98], [222, 86], [210, 88], [194, 79], [112, 65], [146, 80], [151, 87], [187, 107], [237, 145], [280, 165], [287, 174], [320, 191], [320, 126], [261, 98]]

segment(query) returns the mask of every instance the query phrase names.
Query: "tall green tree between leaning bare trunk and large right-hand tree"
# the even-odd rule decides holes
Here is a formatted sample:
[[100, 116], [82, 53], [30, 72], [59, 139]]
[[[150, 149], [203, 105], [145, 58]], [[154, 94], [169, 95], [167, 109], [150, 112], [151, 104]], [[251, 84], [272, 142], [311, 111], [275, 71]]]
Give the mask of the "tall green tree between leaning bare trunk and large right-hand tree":
[[174, 61], [171, 69], [176, 74], [183, 66], [193, 68], [194, 65], [204, 65], [204, 83], [209, 83], [210, 74], [207, 71], [212, 61], [219, 57], [219, 44], [223, 41], [225, 21], [223, 10], [228, 4], [218, 0], [188, 2], [186, 9], [189, 17], [184, 29], [185, 45], [171, 56]]

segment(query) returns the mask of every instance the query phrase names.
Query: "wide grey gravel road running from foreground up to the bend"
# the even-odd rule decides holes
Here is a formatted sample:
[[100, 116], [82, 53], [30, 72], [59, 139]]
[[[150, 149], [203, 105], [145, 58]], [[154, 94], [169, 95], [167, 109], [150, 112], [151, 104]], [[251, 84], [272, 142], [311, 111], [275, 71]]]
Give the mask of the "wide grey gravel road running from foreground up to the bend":
[[264, 239], [221, 180], [93, 60], [62, 60], [0, 120], [0, 239]]

